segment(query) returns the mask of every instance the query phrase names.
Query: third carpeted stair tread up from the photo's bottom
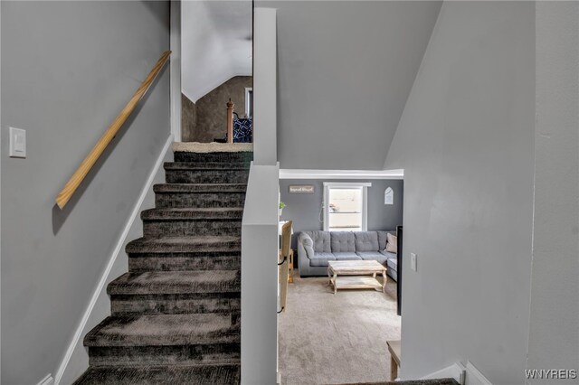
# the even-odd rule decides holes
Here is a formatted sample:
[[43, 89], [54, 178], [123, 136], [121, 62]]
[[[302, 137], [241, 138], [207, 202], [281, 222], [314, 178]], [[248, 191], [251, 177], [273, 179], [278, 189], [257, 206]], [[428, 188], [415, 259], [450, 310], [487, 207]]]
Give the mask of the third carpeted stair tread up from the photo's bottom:
[[125, 273], [107, 287], [109, 295], [232, 293], [241, 290], [239, 270]]

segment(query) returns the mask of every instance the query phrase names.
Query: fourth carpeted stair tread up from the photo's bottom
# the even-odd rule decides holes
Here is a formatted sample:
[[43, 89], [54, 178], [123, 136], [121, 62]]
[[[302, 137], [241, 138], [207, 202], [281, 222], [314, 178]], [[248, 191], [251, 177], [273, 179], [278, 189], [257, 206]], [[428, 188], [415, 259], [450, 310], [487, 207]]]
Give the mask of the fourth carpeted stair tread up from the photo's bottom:
[[240, 251], [239, 236], [138, 238], [128, 242], [128, 253], [187, 253]]

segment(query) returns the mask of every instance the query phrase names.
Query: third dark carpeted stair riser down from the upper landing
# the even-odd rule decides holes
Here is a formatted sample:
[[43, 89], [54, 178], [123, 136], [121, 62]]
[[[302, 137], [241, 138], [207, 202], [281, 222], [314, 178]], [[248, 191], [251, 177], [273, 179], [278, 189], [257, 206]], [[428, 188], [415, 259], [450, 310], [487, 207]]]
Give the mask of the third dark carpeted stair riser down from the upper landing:
[[158, 209], [243, 207], [245, 192], [163, 192], [155, 194]]

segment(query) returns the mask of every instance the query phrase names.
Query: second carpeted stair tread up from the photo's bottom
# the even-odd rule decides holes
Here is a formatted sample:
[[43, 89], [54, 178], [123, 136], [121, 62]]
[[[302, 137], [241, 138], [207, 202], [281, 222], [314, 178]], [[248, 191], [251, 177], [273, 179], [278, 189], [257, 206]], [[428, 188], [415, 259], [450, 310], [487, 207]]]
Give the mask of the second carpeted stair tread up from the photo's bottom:
[[174, 346], [240, 342], [231, 315], [113, 315], [84, 338], [88, 347]]

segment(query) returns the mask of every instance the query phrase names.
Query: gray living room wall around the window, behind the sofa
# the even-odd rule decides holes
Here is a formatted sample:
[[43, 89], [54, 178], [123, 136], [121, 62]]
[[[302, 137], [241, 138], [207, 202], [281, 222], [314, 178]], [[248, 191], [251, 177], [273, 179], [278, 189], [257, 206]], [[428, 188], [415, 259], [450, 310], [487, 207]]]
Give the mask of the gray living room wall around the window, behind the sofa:
[[[280, 179], [280, 200], [288, 205], [283, 209], [281, 221], [293, 221], [294, 236], [291, 248], [297, 249], [299, 231], [323, 230], [324, 218], [322, 203], [324, 202], [324, 182], [371, 182], [368, 187], [368, 230], [396, 230], [403, 220], [403, 181], [374, 179], [365, 181], [352, 180], [318, 180], [318, 179]], [[290, 193], [290, 184], [312, 184], [314, 193]], [[392, 187], [394, 204], [384, 204], [384, 190]]]

